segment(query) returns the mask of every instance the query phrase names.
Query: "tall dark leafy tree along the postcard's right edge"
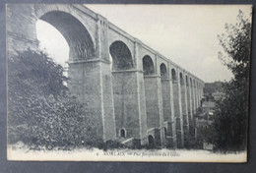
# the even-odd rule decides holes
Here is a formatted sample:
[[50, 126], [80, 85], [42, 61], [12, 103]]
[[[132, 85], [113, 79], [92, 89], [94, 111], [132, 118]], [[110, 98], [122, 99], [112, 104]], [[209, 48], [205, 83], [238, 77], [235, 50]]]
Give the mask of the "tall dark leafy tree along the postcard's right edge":
[[224, 29], [218, 35], [224, 48], [219, 58], [232, 72], [233, 79], [224, 84], [225, 98], [217, 104], [207, 140], [224, 151], [243, 150], [247, 141], [251, 24], [239, 11], [237, 23], [226, 24]]

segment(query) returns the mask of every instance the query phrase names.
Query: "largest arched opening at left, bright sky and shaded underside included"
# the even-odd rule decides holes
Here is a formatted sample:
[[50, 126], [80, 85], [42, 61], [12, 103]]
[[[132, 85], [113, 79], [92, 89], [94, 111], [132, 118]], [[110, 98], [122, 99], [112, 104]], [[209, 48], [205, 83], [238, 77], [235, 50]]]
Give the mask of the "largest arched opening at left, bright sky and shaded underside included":
[[69, 73], [69, 78], [73, 78], [68, 61], [95, 57], [95, 46], [90, 33], [78, 19], [68, 13], [45, 13], [38, 18], [35, 29], [39, 49], [64, 68], [63, 75], [66, 77]]

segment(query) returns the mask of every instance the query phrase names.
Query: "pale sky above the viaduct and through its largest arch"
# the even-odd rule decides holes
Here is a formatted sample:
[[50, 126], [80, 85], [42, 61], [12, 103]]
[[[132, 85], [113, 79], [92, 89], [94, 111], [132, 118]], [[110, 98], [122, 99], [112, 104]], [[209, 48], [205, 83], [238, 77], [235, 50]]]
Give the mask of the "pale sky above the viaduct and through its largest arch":
[[[157, 50], [204, 82], [229, 81], [231, 73], [218, 59], [217, 38], [224, 24], [235, 24], [238, 10], [250, 17], [250, 6], [86, 5], [110, 23]], [[53, 27], [37, 22], [40, 46], [64, 65], [68, 44]]]

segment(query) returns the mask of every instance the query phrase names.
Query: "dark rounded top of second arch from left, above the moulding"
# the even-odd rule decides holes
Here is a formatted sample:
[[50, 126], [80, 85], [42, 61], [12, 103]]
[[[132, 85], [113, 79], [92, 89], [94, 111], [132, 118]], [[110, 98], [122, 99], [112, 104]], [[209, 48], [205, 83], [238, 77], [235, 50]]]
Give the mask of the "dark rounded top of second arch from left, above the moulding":
[[128, 46], [122, 41], [115, 41], [109, 47], [112, 57], [112, 71], [133, 68], [133, 59]]

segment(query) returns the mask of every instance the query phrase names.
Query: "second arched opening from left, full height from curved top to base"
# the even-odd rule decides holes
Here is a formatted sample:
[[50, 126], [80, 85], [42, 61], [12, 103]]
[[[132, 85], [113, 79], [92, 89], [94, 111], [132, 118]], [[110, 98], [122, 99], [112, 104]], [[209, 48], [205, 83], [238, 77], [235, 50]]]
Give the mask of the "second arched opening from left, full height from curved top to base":
[[114, 41], [110, 44], [109, 54], [112, 70], [112, 91], [116, 134], [119, 133], [119, 129], [126, 128], [124, 133], [126, 136], [127, 133], [133, 134], [137, 128], [129, 127], [130, 124], [136, 121], [134, 120], [134, 117], [137, 114], [137, 104], [135, 101], [138, 98], [134, 92], [134, 90], [136, 90], [137, 83], [135, 80], [131, 80], [133, 79], [132, 77], [135, 77], [135, 74], [132, 71], [128, 71], [133, 68], [133, 58], [128, 46], [120, 40]]

